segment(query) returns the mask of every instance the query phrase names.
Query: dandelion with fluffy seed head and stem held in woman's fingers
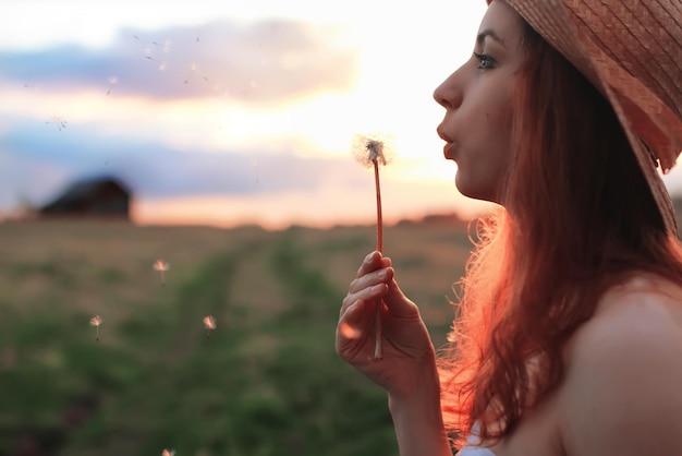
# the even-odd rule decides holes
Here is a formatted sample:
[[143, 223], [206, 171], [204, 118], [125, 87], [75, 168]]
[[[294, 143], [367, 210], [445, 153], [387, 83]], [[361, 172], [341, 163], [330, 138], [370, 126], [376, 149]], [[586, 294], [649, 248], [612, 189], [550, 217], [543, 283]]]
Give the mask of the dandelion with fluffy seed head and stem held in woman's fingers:
[[[381, 185], [379, 184], [379, 166], [386, 166], [388, 163], [387, 139], [372, 135], [357, 135], [353, 140], [353, 153], [355, 158], [364, 166], [374, 168], [374, 183], [377, 199], [377, 251], [383, 252], [383, 216], [381, 214]], [[374, 359], [380, 361], [383, 358], [383, 349], [381, 347], [381, 310], [383, 303], [377, 303], [376, 314], [376, 340], [374, 347]]]

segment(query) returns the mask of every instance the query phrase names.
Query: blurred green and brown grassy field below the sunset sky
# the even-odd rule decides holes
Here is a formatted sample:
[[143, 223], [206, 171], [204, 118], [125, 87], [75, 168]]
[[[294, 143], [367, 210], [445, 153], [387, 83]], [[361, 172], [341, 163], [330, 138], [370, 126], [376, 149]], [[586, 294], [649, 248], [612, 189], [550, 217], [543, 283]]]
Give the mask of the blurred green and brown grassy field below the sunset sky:
[[[385, 236], [443, 341], [465, 233]], [[395, 455], [385, 393], [333, 349], [374, 242], [373, 227], [0, 225], [0, 454]]]

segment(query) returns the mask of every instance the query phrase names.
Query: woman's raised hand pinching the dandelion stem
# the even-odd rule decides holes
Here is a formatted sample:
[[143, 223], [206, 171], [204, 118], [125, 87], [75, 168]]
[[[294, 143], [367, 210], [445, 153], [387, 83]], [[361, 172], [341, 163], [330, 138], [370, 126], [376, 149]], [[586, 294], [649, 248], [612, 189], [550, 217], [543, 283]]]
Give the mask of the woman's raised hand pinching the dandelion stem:
[[[380, 361], [374, 360], [376, 305], [382, 305]], [[349, 287], [336, 347], [343, 360], [391, 396], [407, 397], [425, 383], [437, 382], [436, 353], [419, 310], [400, 290], [391, 260], [379, 252], [365, 257]]]

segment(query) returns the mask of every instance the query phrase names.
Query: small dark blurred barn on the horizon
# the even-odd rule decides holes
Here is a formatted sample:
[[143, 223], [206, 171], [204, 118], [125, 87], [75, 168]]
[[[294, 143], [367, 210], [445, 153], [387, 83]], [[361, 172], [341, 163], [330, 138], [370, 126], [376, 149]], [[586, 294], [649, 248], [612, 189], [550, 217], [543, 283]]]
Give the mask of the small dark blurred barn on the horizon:
[[73, 183], [41, 207], [44, 217], [106, 217], [130, 219], [131, 191], [114, 178], [87, 179]]

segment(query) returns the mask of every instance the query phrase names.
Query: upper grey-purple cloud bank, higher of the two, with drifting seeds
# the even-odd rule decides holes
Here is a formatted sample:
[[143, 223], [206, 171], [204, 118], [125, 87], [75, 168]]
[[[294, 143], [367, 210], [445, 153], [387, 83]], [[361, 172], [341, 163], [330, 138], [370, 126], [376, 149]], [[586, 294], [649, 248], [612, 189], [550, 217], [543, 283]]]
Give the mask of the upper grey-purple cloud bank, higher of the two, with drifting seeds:
[[129, 28], [105, 49], [0, 52], [0, 79], [25, 85], [261, 104], [350, 89], [357, 67], [358, 50], [342, 45], [340, 29], [284, 20]]

